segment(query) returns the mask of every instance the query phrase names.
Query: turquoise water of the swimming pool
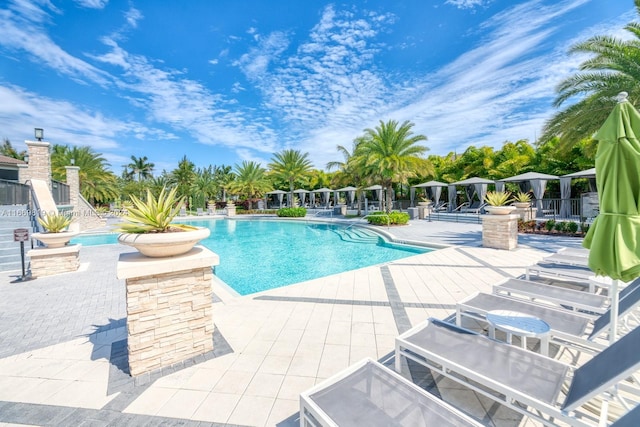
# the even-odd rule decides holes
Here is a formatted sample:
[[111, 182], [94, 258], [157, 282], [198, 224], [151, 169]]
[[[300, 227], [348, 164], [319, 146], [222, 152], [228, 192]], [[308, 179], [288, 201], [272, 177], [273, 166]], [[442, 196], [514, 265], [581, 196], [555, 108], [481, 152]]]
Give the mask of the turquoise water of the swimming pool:
[[[394, 245], [364, 229], [298, 221], [198, 220], [211, 235], [200, 244], [220, 256], [216, 276], [240, 295], [273, 289], [429, 252]], [[85, 246], [117, 243], [117, 234], [85, 235]]]

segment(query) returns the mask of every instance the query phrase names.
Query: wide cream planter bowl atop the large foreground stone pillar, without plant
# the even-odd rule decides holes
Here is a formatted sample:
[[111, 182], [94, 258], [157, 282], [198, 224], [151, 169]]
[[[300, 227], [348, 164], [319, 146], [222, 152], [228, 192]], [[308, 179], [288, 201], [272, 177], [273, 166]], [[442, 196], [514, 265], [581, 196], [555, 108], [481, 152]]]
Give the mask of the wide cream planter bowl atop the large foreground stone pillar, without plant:
[[208, 228], [172, 233], [122, 233], [118, 242], [133, 246], [142, 255], [151, 258], [169, 257], [189, 252], [196, 243], [209, 237]]

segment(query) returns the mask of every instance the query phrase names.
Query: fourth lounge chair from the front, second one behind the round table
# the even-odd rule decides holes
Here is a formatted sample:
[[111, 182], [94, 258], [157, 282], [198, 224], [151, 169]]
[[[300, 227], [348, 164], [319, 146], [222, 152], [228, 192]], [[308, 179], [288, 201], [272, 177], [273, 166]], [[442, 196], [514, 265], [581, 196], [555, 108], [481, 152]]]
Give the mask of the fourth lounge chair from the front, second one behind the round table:
[[[624, 287], [620, 291], [619, 298], [626, 297], [637, 287], [640, 287], [640, 278]], [[505, 279], [493, 285], [493, 293], [512, 298], [528, 298], [538, 303], [546, 301], [556, 306], [599, 314], [604, 313], [609, 305], [609, 298], [604, 295], [520, 279]]]

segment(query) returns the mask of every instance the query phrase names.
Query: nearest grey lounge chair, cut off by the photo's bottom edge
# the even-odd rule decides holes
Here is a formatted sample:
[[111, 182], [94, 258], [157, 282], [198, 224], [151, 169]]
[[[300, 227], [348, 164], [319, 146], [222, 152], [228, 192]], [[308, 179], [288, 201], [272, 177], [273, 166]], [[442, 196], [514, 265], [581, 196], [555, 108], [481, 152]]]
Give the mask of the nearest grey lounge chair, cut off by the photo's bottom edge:
[[482, 426], [371, 359], [300, 394], [300, 425]]

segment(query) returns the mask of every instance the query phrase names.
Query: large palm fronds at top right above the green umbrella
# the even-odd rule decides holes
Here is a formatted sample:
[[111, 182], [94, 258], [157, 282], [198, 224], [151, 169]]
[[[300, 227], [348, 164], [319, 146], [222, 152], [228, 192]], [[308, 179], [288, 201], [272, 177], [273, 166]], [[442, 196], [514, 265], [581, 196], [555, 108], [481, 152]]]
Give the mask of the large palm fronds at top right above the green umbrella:
[[[640, 15], [640, 0], [634, 3]], [[590, 138], [606, 120], [620, 92], [628, 92], [629, 101], [638, 106], [640, 23], [630, 22], [624, 28], [631, 35], [628, 40], [595, 36], [569, 49], [569, 53], [593, 56], [580, 65], [580, 72], [560, 83], [554, 106], [559, 107], [577, 96], [583, 98], [554, 115], [546, 123], [541, 140], [558, 135], [561, 147], [569, 148]]]

